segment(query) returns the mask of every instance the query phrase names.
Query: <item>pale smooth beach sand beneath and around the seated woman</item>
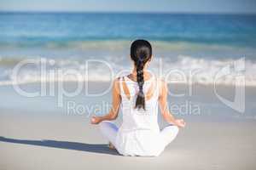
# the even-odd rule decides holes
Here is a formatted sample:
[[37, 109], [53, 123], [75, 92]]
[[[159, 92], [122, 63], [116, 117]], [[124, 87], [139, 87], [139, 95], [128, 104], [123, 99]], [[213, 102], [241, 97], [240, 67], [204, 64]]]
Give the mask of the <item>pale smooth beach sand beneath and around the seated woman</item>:
[[[54, 99], [24, 99], [15, 96], [10, 87], [1, 87], [0, 92], [4, 94], [0, 110], [1, 170], [254, 170], [256, 167], [255, 119], [222, 119], [220, 114], [218, 119], [203, 114], [177, 116], [184, 117], [187, 127], [180, 130], [177, 139], [159, 157], [119, 156], [116, 151], [108, 150], [108, 141], [102, 137], [97, 126], [90, 125], [88, 115], [67, 115], [65, 111], [50, 110], [52, 105], [45, 102]], [[101, 98], [111, 99], [109, 94]], [[199, 99], [195, 95], [194, 100], [210, 104], [214, 100], [207, 99]], [[74, 100], [89, 102], [90, 99], [77, 97]], [[251, 102], [253, 100], [250, 99]], [[215, 111], [226, 110], [215, 108]], [[120, 125], [121, 117], [115, 122]], [[160, 120], [160, 127], [165, 125]]]

